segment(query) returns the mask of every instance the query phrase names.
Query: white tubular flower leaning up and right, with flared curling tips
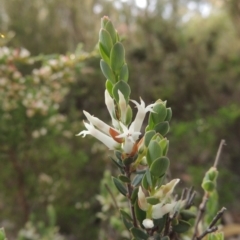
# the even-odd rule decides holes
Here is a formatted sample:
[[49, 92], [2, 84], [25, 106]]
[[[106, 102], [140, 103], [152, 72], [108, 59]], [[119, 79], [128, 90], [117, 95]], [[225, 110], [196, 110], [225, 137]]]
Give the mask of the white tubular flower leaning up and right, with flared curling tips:
[[131, 100], [131, 101], [137, 106], [137, 109], [138, 109], [135, 120], [132, 122], [131, 126], [133, 126], [135, 132], [139, 132], [141, 130], [146, 113], [153, 112], [152, 108], [156, 105], [156, 103], [150, 104], [147, 107], [145, 107], [145, 102], [141, 98], [140, 98], [141, 104], [139, 104], [135, 100]]

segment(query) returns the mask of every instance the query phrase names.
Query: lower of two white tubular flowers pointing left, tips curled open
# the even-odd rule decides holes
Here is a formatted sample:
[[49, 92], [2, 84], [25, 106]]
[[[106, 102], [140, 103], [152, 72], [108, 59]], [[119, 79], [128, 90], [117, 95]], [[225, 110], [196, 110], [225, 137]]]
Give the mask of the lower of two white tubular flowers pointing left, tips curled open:
[[85, 137], [87, 134], [92, 135], [96, 139], [98, 139], [100, 142], [105, 144], [110, 150], [114, 150], [119, 147], [119, 144], [113, 140], [112, 137], [107, 136], [103, 132], [99, 131], [96, 129], [92, 124], [88, 124], [86, 122], [83, 122], [87, 130], [81, 131], [79, 134], [76, 136], [83, 136]]

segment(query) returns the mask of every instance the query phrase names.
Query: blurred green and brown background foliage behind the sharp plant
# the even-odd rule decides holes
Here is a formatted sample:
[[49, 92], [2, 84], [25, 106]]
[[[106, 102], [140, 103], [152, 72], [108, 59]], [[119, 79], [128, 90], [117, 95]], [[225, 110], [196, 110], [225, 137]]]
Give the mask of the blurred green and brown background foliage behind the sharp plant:
[[0, 226], [9, 239], [97, 239], [104, 228], [96, 195], [109, 153], [75, 137], [83, 109], [109, 121], [95, 47], [104, 15], [123, 36], [132, 98], [173, 109], [172, 176], [200, 196], [226, 139], [220, 205], [240, 221], [239, 2], [144, 2], [0, 0]]

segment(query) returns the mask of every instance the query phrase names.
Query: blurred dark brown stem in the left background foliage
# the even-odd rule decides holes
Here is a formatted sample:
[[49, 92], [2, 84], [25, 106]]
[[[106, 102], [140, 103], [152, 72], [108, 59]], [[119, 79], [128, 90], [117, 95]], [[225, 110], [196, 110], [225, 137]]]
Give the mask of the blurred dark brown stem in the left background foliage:
[[9, 152], [9, 159], [13, 165], [15, 170], [15, 174], [17, 176], [17, 187], [18, 187], [18, 197], [22, 212], [23, 212], [23, 220], [26, 222], [29, 216], [29, 206], [27, 203], [27, 198], [25, 196], [25, 182], [24, 182], [24, 174], [21, 165], [18, 162], [16, 154], [14, 151]]

